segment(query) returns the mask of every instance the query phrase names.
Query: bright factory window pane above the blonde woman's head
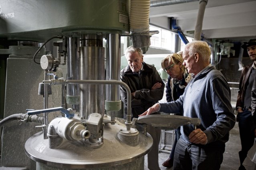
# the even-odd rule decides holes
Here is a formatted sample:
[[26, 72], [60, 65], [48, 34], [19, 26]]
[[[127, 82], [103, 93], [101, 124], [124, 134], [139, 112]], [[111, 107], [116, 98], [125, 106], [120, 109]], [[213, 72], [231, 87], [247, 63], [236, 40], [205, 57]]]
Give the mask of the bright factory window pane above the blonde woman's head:
[[149, 30], [159, 31], [158, 34], [154, 34], [151, 36], [151, 47], [164, 48], [174, 51], [175, 34], [173, 32], [155, 26], [150, 26]]

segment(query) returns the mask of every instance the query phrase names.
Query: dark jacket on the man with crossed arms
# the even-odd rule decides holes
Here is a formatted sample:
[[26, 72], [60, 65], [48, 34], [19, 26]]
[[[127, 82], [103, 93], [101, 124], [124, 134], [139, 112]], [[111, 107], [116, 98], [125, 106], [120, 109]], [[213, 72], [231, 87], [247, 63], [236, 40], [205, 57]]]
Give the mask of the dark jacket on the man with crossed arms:
[[[140, 74], [133, 73], [129, 65], [121, 70], [121, 81], [126, 83], [135, 97], [131, 98], [132, 118], [147, 111], [147, 109], [163, 98], [164, 83], [154, 66], [143, 63], [143, 71]], [[162, 86], [151, 90], [152, 86], [160, 82]], [[127, 111], [127, 93], [121, 86], [121, 100], [125, 104], [125, 115]]]

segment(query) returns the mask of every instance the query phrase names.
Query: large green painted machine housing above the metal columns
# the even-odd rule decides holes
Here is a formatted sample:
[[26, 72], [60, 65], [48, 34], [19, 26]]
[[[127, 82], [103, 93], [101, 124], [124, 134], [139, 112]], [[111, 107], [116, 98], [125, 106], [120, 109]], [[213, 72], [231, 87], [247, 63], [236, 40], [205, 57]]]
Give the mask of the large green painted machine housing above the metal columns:
[[129, 0], [0, 0], [0, 38], [129, 33]]

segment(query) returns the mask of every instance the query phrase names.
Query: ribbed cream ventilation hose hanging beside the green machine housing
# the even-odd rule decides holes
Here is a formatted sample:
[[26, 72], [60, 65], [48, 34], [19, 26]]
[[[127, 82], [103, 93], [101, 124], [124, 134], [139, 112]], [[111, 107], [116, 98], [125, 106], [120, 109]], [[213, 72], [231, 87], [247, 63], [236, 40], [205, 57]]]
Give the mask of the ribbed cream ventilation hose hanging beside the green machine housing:
[[131, 0], [130, 31], [134, 47], [149, 47], [150, 0]]

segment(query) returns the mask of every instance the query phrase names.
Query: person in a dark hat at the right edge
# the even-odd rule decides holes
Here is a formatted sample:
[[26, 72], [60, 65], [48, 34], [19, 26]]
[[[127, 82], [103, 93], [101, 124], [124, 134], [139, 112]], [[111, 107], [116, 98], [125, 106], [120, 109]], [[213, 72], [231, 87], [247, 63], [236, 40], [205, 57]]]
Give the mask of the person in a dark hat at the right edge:
[[250, 59], [253, 61], [242, 70], [236, 101], [236, 110], [238, 112], [236, 121], [238, 121], [242, 145], [242, 150], [238, 152], [240, 158], [239, 170], [245, 170], [242, 163], [246, 158], [248, 150], [254, 144], [254, 135], [251, 133], [250, 120], [252, 119], [252, 85], [256, 76], [256, 39], [249, 40], [241, 47], [247, 50]]

